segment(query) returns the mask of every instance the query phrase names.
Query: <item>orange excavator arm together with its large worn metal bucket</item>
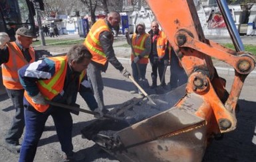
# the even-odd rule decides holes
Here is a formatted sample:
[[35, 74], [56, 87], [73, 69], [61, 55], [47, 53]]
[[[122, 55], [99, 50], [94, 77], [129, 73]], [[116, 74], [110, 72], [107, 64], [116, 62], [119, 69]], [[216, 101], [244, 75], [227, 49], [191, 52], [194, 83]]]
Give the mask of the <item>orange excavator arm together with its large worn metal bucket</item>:
[[[217, 3], [225, 15], [225, 4]], [[186, 71], [188, 83], [163, 95], [150, 95], [153, 101], [163, 101], [154, 107], [142, 99], [124, 102], [109, 113], [124, 122], [96, 120], [82, 135], [120, 161], [201, 161], [216, 135], [235, 130], [235, 108], [255, 58], [243, 52], [236, 29], [229, 25], [236, 51], [207, 40], [193, 1], [148, 0], [148, 5]], [[232, 21], [225, 18], [225, 22]], [[217, 75], [211, 57], [235, 69], [231, 91], [226, 91], [225, 79]]]

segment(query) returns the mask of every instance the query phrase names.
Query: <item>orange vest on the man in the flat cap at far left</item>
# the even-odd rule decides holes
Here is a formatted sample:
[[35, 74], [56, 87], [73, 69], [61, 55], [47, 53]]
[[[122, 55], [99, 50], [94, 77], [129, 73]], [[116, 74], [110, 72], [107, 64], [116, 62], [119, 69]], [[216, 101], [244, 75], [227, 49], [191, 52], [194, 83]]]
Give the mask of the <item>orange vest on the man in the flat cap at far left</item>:
[[24, 65], [35, 61], [35, 50], [32, 47], [29, 48], [29, 54], [32, 59], [28, 62], [24, 58], [19, 46], [15, 42], [10, 42], [10, 44], [13, 48], [8, 47], [9, 60], [7, 63], [1, 65], [3, 85], [5, 85], [7, 89], [24, 89], [19, 82], [18, 70]]

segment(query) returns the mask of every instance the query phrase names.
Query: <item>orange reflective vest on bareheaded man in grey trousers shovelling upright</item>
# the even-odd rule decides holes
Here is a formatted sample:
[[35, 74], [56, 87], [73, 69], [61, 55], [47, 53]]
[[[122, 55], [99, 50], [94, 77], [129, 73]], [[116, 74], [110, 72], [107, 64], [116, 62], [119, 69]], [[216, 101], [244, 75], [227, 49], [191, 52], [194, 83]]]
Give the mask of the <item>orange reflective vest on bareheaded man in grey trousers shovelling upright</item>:
[[84, 40], [84, 46], [88, 48], [90, 54], [92, 54], [92, 61], [105, 65], [107, 59], [106, 54], [102, 49], [100, 44], [100, 33], [108, 31], [110, 32], [111, 29], [108, 27], [104, 19], [97, 20], [90, 28], [90, 32], [86, 36]]

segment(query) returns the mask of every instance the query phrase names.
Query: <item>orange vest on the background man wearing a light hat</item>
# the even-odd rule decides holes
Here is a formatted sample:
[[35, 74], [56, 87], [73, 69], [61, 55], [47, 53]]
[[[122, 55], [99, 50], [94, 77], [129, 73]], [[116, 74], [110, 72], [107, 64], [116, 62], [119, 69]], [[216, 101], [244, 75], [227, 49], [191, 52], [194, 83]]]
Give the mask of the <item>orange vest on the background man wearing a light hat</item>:
[[[139, 56], [145, 50], [145, 40], [150, 36], [147, 33], [142, 34], [138, 39], [136, 39], [138, 34], [134, 33], [132, 36], [132, 47], [134, 48], [134, 53], [131, 54], [131, 60], [133, 61], [135, 56]], [[134, 56], [135, 55], [135, 56]], [[138, 63], [148, 63], [148, 55], [141, 58]]]

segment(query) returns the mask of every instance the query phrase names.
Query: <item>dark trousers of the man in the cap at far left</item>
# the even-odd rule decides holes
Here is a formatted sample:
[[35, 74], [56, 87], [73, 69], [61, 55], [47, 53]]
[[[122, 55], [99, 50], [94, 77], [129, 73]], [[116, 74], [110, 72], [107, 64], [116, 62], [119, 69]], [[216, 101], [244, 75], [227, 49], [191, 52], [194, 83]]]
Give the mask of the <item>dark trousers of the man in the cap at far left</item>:
[[23, 129], [25, 127], [24, 108], [23, 108], [24, 90], [23, 89], [21, 90], [6, 89], [6, 91], [9, 98], [13, 102], [13, 106], [15, 108], [15, 116], [13, 117], [11, 128], [7, 132], [5, 141], [7, 143], [18, 145], [19, 139], [21, 138], [23, 134]]

